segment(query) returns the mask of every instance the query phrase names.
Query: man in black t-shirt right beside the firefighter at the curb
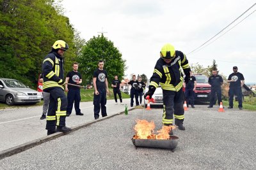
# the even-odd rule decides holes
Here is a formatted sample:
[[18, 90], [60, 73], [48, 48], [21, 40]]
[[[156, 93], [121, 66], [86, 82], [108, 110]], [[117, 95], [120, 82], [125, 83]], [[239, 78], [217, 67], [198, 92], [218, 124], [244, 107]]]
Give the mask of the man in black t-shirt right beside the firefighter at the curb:
[[67, 85], [67, 83], [73, 85], [79, 85], [82, 83], [82, 75], [79, 73], [78, 70], [78, 63], [73, 63], [73, 71], [68, 72], [66, 77], [66, 84], [65, 84], [65, 91], [68, 92], [67, 99], [68, 99], [68, 106], [67, 106], [67, 117], [72, 113], [73, 103], [75, 101], [75, 110], [76, 115], [83, 116], [84, 114], [81, 113], [79, 108], [81, 96], [80, 96], [80, 88], [72, 85]]

